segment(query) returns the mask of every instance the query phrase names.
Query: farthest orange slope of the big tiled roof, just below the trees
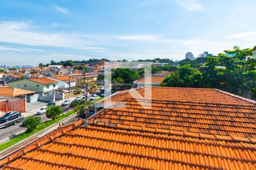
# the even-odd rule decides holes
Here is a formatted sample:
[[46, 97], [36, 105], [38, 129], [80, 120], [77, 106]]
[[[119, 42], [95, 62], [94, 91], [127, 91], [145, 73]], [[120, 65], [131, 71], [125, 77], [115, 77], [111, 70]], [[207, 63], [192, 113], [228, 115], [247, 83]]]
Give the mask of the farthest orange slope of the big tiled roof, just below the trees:
[[[144, 96], [144, 88], [138, 88], [139, 94]], [[216, 103], [233, 105], [255, 105], [246, 99], [213, 89], [213, 88], [181, 88], [181, 87], [151, 87], [152, 99], [171, 101], [193, 101], [198, 103]], [[133, 98], [128, 92], [112, 97], [113, 101]]]

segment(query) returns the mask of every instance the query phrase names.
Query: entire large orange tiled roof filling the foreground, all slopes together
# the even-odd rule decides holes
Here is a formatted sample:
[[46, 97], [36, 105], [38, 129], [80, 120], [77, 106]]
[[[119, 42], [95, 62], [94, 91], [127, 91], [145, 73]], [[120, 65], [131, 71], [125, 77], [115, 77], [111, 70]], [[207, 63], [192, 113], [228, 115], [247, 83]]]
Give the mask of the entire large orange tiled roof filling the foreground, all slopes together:
[[[143, 95], [145, 88], [136, 91]], [[152, 87], [151, 108], [127, 91], [88, 120], [60, 126], [3, 169], [256, 169], [256, 103], [216, 89]], [[144, 100], [147, 104], [148, 99]]]

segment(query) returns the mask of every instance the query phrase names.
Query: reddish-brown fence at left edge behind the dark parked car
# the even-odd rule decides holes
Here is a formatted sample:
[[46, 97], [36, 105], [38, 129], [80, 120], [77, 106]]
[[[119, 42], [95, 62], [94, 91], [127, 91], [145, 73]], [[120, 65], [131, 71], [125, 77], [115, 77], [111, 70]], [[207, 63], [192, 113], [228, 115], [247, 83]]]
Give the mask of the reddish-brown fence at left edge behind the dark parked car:
[[7, 103], [0, 103], [0, 117], [6, 112], [18, 111], [20, 113], [26, 112], [26, 101], [25, 99], [8, 101]]

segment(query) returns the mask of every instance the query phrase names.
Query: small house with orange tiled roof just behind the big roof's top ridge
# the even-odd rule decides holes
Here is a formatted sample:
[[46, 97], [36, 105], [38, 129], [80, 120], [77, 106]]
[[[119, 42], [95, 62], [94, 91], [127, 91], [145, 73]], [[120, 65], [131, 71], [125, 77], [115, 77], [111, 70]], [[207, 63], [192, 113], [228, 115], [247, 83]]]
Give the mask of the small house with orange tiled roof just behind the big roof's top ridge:
[[141, 78], [139, 80], [136, 80], [133, 82], [133, 84], [137, 85], [137, 87], [144, 87], [145, 84], [146, 86], [159, 86], [160, 83], [163, 82], [163, 79], [166, 78], [166, 76], [170, 75], [172, 72], [170, 71], [159, 71], [158, 73], [152, 74], [151, 79], [146, 78]]

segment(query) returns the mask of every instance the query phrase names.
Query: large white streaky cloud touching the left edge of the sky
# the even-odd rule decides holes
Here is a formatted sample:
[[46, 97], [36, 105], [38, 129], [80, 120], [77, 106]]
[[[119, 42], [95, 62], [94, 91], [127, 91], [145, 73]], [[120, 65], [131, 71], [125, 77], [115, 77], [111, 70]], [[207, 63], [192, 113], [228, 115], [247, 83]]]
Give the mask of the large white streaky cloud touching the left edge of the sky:
[[31, 31], [34, 28], [36, 26], [31, 22], [2, 22], [0, 23], [0, 42], [66, 48], [77, 48], [89, 44], [88, 41], [73, 34]]

